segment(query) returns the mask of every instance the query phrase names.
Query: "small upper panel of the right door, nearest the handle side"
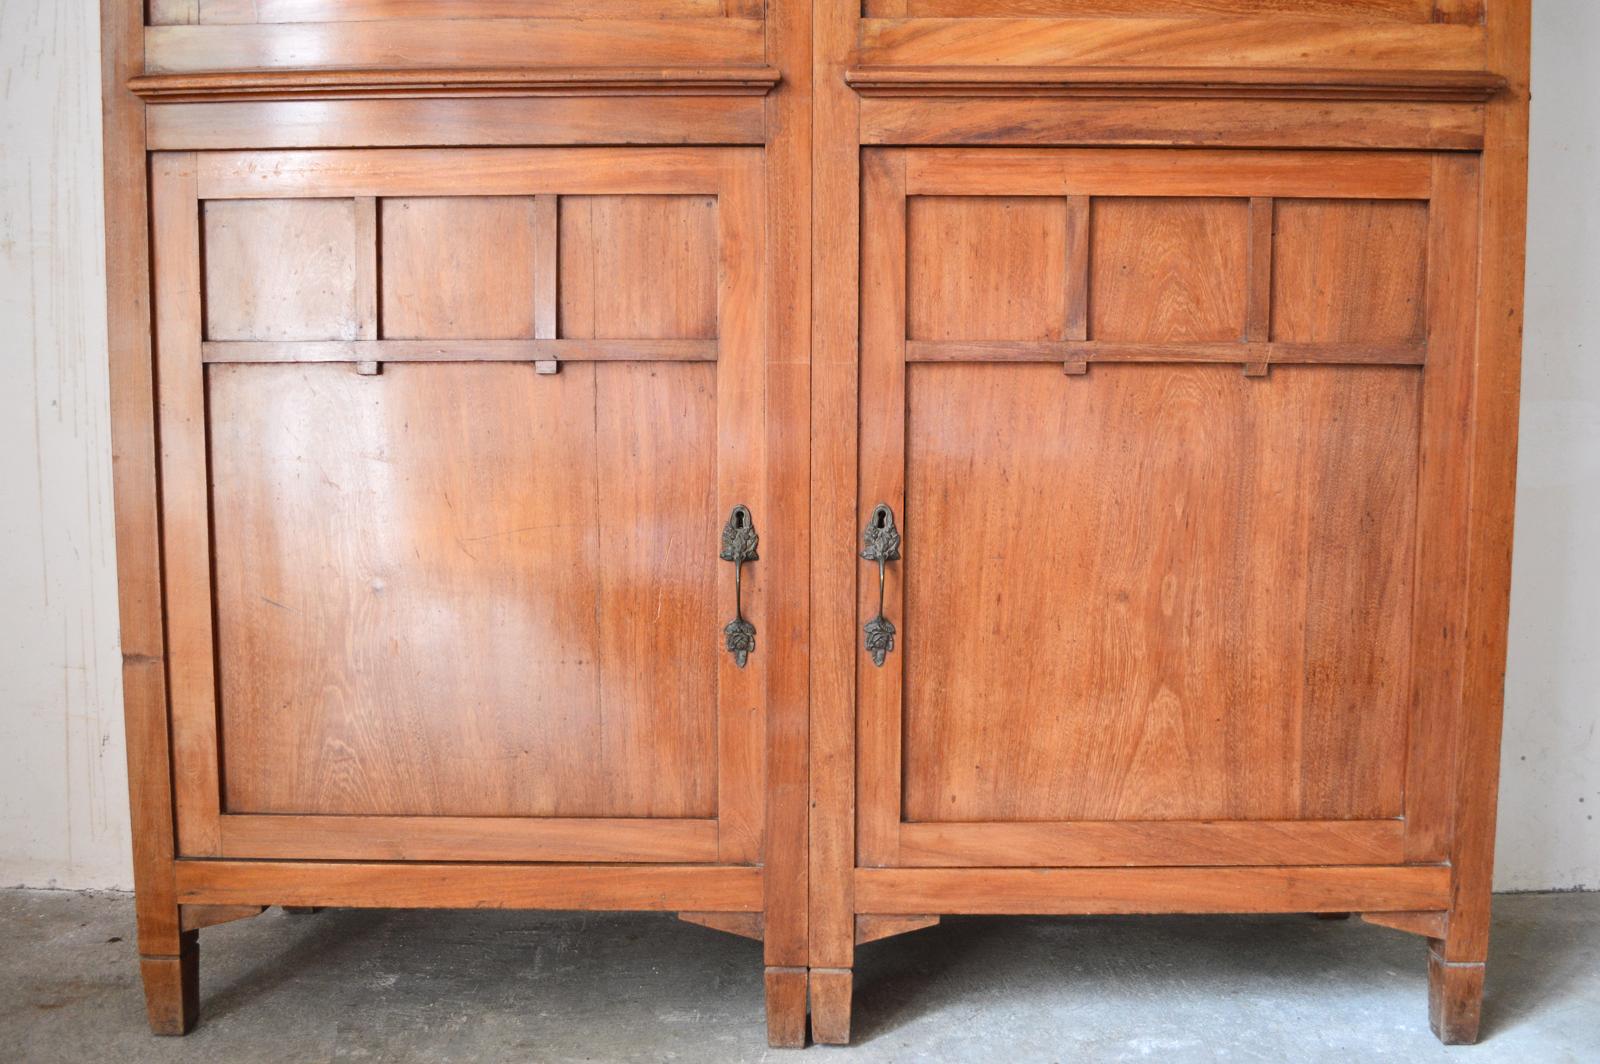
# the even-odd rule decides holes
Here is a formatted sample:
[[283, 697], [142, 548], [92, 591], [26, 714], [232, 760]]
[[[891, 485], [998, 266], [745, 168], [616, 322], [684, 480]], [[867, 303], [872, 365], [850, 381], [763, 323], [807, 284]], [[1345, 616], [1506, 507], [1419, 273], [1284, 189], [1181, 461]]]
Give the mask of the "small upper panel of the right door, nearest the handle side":
[[912, 197], [906, 203], [912, 339], [1062, 339], [1062, 197]]

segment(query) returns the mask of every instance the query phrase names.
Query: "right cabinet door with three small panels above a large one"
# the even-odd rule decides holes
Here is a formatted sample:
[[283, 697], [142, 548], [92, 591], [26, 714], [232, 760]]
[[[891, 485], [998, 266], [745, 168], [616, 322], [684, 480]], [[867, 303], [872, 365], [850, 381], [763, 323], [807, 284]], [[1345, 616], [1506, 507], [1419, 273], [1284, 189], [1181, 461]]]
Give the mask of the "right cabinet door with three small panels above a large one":
[[866, 155], [862, 866], [1442, 856], [1475, 168]]

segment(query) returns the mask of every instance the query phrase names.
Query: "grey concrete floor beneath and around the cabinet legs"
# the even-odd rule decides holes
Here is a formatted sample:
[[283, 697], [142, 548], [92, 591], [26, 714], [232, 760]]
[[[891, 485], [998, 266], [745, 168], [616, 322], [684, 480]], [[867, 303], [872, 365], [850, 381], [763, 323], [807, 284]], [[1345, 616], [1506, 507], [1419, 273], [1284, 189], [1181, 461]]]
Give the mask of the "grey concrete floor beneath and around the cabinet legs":
[[760, 947], [664, 915], [328, 910], [202, 931], [152, 1038], [125, 894], [0, 891], [0, 1061], [1600, 1061], [1600, 894], [1498, 901], [1485, 1042], [1421, 939], [1309, 917], [960, 918], [861, 949], [856, 1045], [765, 1045]]

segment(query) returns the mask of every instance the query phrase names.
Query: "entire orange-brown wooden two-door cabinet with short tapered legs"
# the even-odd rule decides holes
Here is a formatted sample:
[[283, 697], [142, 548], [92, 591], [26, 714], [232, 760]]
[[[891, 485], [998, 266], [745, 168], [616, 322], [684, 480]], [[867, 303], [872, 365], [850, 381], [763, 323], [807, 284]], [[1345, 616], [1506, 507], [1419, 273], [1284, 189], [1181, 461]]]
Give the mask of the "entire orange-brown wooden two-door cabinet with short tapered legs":
[[678, 912], [778, 1045], [1358, 912], [1472, 1040], [1526, 19], [107, 0], [154, 1027], [269, 904]]

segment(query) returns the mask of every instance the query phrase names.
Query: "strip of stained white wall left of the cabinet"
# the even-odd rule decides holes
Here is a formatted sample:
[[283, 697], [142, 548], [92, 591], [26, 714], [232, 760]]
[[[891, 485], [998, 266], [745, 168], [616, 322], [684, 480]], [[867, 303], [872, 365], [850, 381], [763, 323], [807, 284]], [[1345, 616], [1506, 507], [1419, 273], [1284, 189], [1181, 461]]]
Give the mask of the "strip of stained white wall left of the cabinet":
[[128, 886], [96, 0], [0, 0], [0, 885]]

